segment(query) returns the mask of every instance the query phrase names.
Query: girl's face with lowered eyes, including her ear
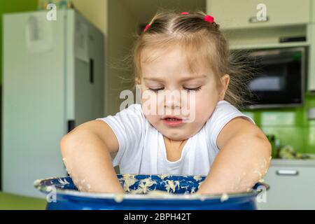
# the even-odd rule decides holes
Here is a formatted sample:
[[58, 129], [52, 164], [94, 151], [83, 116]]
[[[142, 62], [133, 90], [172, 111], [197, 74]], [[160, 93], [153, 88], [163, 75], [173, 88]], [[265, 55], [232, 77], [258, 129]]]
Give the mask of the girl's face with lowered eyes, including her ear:
[[[144, 55], [150, 54], [144, 50]], [[181, 49], [174, 47], [162, 52], [151, 62], [141, 62], [141, 104], [148, 121], [165, 137], [184, 140], [199, 132], [207, 122], [218, 101], [224, 99], [229, 76], [221, 78], [218, 90], [214, 73], [199, 66], [190, 73]], [[176, 116], [182, 122], [163, 120]]]

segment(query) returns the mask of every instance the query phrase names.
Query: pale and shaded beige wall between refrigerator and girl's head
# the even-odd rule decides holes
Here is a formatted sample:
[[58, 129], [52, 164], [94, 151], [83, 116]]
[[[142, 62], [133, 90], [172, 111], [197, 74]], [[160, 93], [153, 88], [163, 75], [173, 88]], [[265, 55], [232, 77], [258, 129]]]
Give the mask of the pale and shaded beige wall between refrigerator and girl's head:
[[130, 89], [132, 78], [123, 59], [130, 53], [137, 30], [137, 16], [133, 15], [124, 1], [117, 0], [73, 0], [80, 13], [99, 27], [105, 34], [105, 114], [119, 111], [120, 92]]

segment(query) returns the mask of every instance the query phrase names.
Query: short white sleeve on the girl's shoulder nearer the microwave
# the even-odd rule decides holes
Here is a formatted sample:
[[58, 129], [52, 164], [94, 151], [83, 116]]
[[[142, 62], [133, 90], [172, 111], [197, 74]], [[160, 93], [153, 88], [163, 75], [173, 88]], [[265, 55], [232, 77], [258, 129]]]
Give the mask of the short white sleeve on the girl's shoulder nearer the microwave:
[[207, 123], [205, 124], [205, 130], [207, 136], [209, 136], [209, 144], [211, 144], [211, 146], [215, 148], [216, 151], [219, 151], [219, 148], [216, 144], [218, 134], [221, 132], [221, 130], [223, 130], [223, 127], [225, 127], [225, 125], [230, 122], [230, 120], [236, 117], [244, 117], [255, 125], [253, 118], [246, 116], [244, 113], [241, 113], [241, 111], [239, 111], [235, 106], [225, 100], [218, 102], [216, 109], [214, 109], [214, 112], [211, 114], [209, 120], [207, 120]]

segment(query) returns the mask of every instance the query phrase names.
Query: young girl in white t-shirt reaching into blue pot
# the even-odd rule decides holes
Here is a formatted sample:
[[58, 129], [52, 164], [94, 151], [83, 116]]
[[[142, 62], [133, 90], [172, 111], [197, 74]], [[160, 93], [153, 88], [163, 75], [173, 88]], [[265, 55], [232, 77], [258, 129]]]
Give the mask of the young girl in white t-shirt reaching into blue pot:
[[[211, 15], [157, 13], [134, 45], [134, 69], [141, 104], [62, 138], [79, 190], [124, 193], [116, 165], [125, 174], [205, 175], [200, 194], [244, 192], [262, 179], [271, 146], [236, 107], [246, 85]], [[160, 97], [169, 91], [189, 99]]]

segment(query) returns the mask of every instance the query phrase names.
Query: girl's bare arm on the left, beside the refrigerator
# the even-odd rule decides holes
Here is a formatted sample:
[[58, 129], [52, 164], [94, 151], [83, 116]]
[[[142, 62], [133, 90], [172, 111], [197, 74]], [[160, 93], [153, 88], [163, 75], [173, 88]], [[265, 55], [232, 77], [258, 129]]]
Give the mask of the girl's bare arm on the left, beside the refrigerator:
[[118, 140], [102, 120], [76, 127], [60, 141], [66, 169], [80, 191], [124, 193], [113, 169], [111, 153], [118, 151]]

